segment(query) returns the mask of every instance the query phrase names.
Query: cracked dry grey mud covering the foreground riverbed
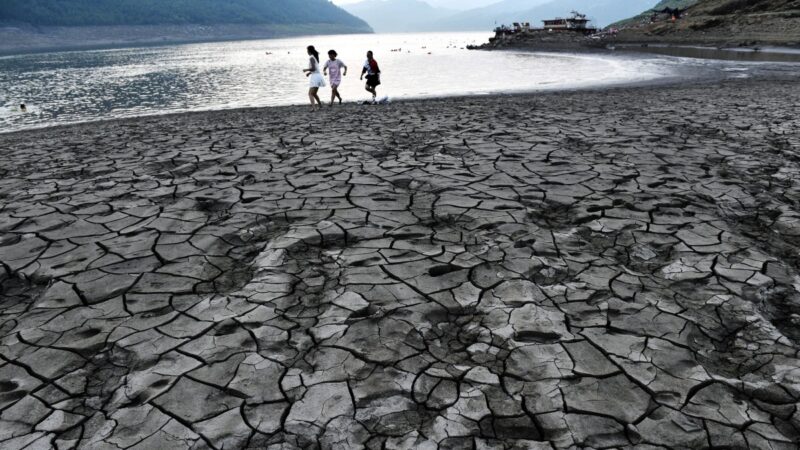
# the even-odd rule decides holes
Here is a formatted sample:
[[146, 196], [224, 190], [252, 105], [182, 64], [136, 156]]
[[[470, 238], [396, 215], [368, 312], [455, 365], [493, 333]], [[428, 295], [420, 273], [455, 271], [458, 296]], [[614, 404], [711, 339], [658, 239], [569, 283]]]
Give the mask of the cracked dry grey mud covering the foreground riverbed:
[[0, 447], [796, 448], [795, 80], [0, 136]]

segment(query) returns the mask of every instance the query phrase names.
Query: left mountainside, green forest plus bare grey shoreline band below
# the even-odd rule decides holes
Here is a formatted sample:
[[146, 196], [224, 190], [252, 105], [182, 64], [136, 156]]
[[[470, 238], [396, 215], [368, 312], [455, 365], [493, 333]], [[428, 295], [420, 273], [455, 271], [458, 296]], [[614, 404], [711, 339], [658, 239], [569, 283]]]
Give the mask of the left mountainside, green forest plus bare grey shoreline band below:
[[0, 55], [371, 32], [327, 0], [0, 0]]

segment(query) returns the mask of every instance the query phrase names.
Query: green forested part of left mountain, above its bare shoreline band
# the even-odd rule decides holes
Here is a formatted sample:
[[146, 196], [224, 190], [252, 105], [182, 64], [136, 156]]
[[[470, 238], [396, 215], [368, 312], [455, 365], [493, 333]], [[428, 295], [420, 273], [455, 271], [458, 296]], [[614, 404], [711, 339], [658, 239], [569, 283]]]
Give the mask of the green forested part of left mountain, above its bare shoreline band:
[[35, 26], [184, 24], [369, 25], [327, 0], [0, 0], [0, 23]]

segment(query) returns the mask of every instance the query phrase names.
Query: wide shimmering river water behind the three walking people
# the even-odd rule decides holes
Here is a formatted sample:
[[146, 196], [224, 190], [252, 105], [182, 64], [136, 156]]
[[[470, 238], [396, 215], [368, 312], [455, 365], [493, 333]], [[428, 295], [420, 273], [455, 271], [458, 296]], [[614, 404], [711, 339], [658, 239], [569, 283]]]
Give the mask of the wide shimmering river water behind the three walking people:
[[[367, 50], [392, 99], [482, 95], [623, 84], [676, 76], [676, 58], [631, 54], [469, 51], [487, 33], [316, 36], [42, 53], [0, 58], [0, 132], [164, 113], [303, 104], [305, 47], [339, 52], [346, 101]], [[330, 95], [328, 88], [321, 97]], [[19, 104], [27, 105], [27, 112]]]

